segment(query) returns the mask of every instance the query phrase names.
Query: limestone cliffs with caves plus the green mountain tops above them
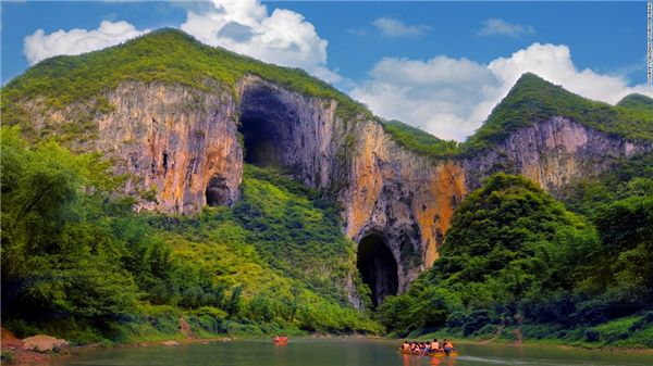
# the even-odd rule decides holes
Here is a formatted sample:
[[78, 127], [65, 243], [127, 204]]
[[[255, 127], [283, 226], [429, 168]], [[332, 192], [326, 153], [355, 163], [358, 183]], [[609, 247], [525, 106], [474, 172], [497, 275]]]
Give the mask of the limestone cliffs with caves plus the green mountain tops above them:
[[[159, 52], [162, 45], [174, 51]], [[527, 75], [467, 142], [476, 150], [429, 156], [306, 73], [170, 29], [44, 61], [2, 97], [3, 123], [113, 159], [137, 210], [230, 205], [244, 163], [285, 168], [338, 201], [375, 304], [432, 265], [457, 204], [489, 175], [522, 174], [556, 194], [614, 159], [653, 152], [650, 101], [613, 108]]]

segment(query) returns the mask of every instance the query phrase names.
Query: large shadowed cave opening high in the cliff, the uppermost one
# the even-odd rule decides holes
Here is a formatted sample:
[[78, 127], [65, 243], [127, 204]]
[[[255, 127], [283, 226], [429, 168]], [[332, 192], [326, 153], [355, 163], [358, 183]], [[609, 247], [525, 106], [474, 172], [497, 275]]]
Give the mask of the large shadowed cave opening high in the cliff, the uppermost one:
[[243, 93], [239, 110], [245, 163], [263, 167], [287, 165], [284, 153], [292, 150], [293, 125], [297, 122], [294, 109], [278, 90], [256, 85]]

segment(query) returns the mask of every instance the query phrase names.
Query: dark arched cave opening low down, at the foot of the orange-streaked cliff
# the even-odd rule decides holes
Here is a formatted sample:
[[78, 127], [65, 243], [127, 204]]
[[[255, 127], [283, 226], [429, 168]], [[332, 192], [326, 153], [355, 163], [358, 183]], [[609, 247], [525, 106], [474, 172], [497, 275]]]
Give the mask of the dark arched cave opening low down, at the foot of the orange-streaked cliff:
[[358, 245], [356, 266], [362, 281], [372, 291], [372, 306], [377, 307], [387, 295], [397, 294], [397, 262], [382, 236], [364, 237]]

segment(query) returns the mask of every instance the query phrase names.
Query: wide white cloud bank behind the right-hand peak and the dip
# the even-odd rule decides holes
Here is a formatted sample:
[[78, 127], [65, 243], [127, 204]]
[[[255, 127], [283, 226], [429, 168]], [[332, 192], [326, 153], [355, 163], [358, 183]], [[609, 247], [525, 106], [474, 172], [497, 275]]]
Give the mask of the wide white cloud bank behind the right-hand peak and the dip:
[[438, 137], [471, 135], [526, 72], [586, 98], [616, 103], [631, 92], [653, 97], [653, 87], [628, 86], [624, 76], [578, 70], [567, 46], [533, 43], [489, 64], [444, 55], [428, 61], [383, 59], [350, 94], [385, 117]]

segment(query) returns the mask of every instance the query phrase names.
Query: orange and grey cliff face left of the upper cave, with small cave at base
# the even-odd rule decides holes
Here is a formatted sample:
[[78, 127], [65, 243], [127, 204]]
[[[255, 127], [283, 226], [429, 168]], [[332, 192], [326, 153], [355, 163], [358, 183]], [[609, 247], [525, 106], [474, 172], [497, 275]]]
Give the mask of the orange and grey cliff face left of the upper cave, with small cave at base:
[[113, 111], [98, 118], [95, 148], [135, 178], [127, 191], [141, 198], [138, 209], [190, 214], [236, 200], [237, 108], [229, 90], [211, 87], [125, 83], [106, 94]]

